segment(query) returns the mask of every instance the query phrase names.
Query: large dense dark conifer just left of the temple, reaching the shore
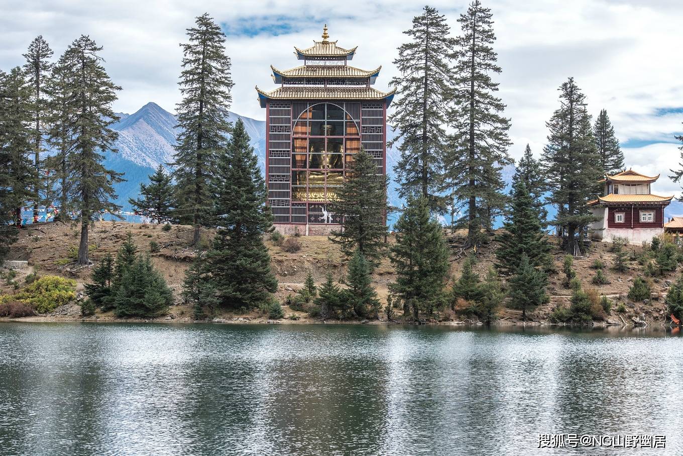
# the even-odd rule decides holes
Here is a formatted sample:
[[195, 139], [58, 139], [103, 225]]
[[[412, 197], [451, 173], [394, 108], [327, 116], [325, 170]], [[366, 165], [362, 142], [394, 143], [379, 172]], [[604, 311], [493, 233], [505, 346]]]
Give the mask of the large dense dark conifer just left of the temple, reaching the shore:
[[214, 172], [211, 193], [219, 226], [206, 267], [223, 305], [253, 307], [270, 299], [277, 280], [263, 241], [264, 234], [273, 229], [264, 204], [266, 184], [241, 119]]

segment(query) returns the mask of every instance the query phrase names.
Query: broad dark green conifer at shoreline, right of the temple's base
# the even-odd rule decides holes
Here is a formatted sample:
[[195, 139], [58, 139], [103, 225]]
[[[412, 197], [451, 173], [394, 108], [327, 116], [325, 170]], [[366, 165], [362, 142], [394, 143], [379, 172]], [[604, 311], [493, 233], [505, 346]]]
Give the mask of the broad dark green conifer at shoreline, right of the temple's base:
[[393, 291], [410, 304], [413, 318], [419, 306], [431, 314], [443, 300], [449, 271], [449, 250], [441, 225], [430, 215], [426, 198], [408, 198], [408, 206], [394, 225], [396, 242], [391, 246], [395, 267]]

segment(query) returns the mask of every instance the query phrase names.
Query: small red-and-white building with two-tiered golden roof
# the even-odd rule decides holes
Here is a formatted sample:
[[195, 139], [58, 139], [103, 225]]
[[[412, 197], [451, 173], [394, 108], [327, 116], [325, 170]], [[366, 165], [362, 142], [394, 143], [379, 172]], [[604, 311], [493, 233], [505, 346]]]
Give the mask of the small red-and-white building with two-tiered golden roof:
[[633, 170], [605, 176], [602, 196], [589, 202], [593, 215], [600, 217], [591, 224], [594, 239], [612, 241], [627, 238], [630, 243], [650, 241], [664, 232], [664, 208], [673, 196], [658, 196], [650, 186], [659, 178]]

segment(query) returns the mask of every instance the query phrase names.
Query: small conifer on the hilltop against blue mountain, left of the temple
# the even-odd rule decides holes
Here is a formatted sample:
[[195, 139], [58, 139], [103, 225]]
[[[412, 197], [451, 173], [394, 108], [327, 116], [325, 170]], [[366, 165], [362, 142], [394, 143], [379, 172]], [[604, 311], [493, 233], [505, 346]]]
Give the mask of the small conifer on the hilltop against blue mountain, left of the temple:
[[170, 222], [173, 217], [173, 184], [171, 176], [166, 173], [163, 165], [158, 165], [154, 174], [149, 176], [148, 185], [140, 184], [142, 198], [129, 198], [128, 203], [144, 217], [150, 217], [152, 222], [163, 224]]

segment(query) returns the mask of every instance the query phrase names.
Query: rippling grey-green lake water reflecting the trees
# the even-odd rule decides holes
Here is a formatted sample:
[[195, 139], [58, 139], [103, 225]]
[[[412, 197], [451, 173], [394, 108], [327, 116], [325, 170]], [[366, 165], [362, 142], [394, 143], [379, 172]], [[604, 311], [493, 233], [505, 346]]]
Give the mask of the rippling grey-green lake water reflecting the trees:
[[[557, 455], [540, 433], [665, 435], [667, 332], [0, 323], [0, 455]], [[623, 454], [596, 448], [590, 454]]]

